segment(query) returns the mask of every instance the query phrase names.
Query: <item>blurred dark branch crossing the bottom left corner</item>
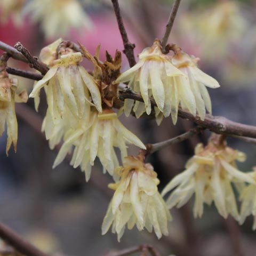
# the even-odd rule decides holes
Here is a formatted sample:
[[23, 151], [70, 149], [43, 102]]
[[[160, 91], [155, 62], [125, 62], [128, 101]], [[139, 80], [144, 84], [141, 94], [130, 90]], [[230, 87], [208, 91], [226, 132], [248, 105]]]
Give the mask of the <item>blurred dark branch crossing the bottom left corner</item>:
[[0, 222], [0, 237], [26, 256], [48, 256]]

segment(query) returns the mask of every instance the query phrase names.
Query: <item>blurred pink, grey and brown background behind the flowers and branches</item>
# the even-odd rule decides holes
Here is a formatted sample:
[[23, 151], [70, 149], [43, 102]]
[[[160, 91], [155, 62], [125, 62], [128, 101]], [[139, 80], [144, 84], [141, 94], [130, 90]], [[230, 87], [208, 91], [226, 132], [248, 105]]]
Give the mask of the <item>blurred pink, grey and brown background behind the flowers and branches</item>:
[[[155, 38], [161, 39], [172, 3], [119, 0], [136, 55], [151, 46]], [[255, 13], [254, 0], [181, 1], [169, 38], [169, 43], [201, 58], [199, 67], [219, 81], [218, 90], [209, 89], [213, 115], [250, 125], [256, 125]], [[11, 46], [19, 41], [38, 56], [42, 47], [59, 37], [80, 42], [92, 54], [100, 43], [102, 61], [106, 50], [112, 55], [116, 49], [123, 50], [110, 0], [0, 0], [1, 41]], [[122, 63], [122, 70], [126, 70], [129, 65], [124, 55]], [[91, 68], [86, 61], [83, 65]], [[12, 59], [8, 66], [30, 70], [25, 63]], [[30, 92], [33, 83], [19, 78], [19, 90], [26, 88]], [[205, 205], [202, 219], [195, 220], [193, 200], [171, 211], [174, 221], [170, 223], [170, 235], [159, 241], [155, 234], [137, 229], [126, 230], [121, 243], [111, 232], [101, 236], [101, 223], [113, 194], [107, 188], [111, 178], [102, 174], [99, 162], [88, 183], [84, 173], [79, 168], [74, 170], [68, 161], [52, 170], [57, 151], [49, 149], [41, 133], [46, 113], [43, 93], [39, 113], [34, 110], [33, 99], [26, 106], [17, 104], [16, 110], [17, 154], [10, 150], [6, 157], [6, 133], [0, 137], [0, 221], [41, 250], [54, 255], [110, 256], [115, 250], [147, 243], [163, 256], [255, 255], [256, 234], [251, 229], [251, 217], [238, 227], [232, 219], [221, 218], [214, 206]], [[146, 118], [122, 116], [121, 120], [144, 143], [172, 138], [194, 126], [183, 119], [174, 126], [171, 118], [164, 119], [161, 126]], [[148, 157], [161, 180], [159, 190], [183, 171], [195, 145], [206, 143], [209, 135], [205, 131]], [[256, 165], [255, 145], [235, 138], [227, 140], [229, 146], [247, 154], [247, 161], [238, 165], [240, 170], [252, 171]], [[137, 148], [129, 150], [130, 154], [138, 153]]]

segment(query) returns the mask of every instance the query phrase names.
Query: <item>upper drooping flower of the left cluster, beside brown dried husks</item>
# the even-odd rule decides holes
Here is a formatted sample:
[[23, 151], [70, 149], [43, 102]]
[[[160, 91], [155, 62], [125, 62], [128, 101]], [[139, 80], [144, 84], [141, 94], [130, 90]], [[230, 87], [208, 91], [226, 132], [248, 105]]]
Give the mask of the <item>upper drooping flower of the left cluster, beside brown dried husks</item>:
[[81, 118], [85, 111], [90, 111], [90, 106], [102, 111], [98, 85], [93, 77], [79, 66], [82, 54], [66, 48], [61, 52], [60, 58], [54, 60], [53, 56], [59, 43], [61, 39], [42, 50], [40, 58], [50, 69], [42, 80], [34, 85], [29, 95], [32, 98], [38, 97], [39, 91], [44, 87], [49, 113], [56, 124], [61, 121], [66, 108], [78, 118]]

